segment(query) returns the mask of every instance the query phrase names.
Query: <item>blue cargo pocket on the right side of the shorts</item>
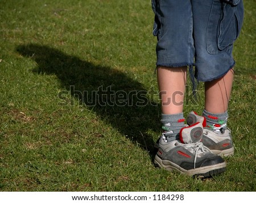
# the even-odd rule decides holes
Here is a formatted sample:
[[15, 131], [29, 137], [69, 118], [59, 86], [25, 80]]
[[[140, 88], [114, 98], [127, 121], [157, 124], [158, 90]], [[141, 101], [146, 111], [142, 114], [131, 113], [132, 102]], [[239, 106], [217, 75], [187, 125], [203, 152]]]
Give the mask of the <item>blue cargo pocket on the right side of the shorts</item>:
[[208, 52], [218, 54], [232, 48], [240, 34], [242, 20], [243, 5], [240, 0], [231, 0], [228, 3], [214, 1], [207, 28]]

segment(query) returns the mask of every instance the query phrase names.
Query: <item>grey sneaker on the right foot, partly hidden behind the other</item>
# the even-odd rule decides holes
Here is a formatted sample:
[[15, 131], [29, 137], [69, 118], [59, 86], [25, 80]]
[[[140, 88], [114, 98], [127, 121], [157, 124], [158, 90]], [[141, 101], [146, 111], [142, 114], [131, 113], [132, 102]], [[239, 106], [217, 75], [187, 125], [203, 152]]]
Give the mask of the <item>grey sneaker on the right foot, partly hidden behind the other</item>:
[[231, 130], [226, 127], [226, 124], [217, 126], [207, 126], [204, 116], [197, 115], [196, 112], [190, 112], [187, 117], [187, 124], [193, 125], [200, 122], [203, 125], [203, 142], [204, 146], [208, 147], [213, 154], [228, 157], [234, 154], [234, 146], [231, 136]]

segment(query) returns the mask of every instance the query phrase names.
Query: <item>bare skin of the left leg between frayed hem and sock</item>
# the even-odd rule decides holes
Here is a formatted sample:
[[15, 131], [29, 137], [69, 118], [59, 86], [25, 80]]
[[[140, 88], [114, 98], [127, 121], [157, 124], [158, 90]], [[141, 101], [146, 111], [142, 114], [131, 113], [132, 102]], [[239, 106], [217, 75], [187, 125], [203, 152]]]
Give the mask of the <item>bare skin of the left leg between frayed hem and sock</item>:
[[183, 112], [187, 67], [158, 67], [158, 86], [162, 101], [162, 113]]

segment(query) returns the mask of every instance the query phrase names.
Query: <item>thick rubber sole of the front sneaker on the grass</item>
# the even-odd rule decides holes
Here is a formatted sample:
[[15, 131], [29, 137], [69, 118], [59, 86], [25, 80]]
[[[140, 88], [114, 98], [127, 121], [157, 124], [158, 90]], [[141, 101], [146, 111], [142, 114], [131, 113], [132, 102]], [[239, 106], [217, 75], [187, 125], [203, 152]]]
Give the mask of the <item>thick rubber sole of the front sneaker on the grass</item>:
[[212, 177], [217, 174], [221, 174], [222, 172], [226, 171], [226, 162], [214, 164], [212, 166], [205, 166], [200, 168], [194, 168], [191, 170], [185, 170], [181, 168], [177, 164], [171, 162], [170, 160], [162, 160], [158, 155], [155, 156], [154, 164], [156, 164], [160, 168], [164, 168], [167, 171], [179, 171], [181, 174], [194, 176], [194, 177]]

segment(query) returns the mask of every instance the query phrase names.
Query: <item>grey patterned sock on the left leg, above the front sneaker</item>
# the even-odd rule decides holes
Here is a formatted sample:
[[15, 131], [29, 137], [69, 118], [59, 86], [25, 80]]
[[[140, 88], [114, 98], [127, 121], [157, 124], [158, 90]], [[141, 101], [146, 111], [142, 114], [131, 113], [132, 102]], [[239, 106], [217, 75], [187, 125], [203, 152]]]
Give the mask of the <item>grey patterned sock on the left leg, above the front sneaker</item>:
[[180, 129], [183, 128], [184, 125], [184, 116], [183, 113], [177, 114], [162, 114], [162, 129], [163, 134], [166, 137], [167, 142], [175, 141], [179, 139]]

